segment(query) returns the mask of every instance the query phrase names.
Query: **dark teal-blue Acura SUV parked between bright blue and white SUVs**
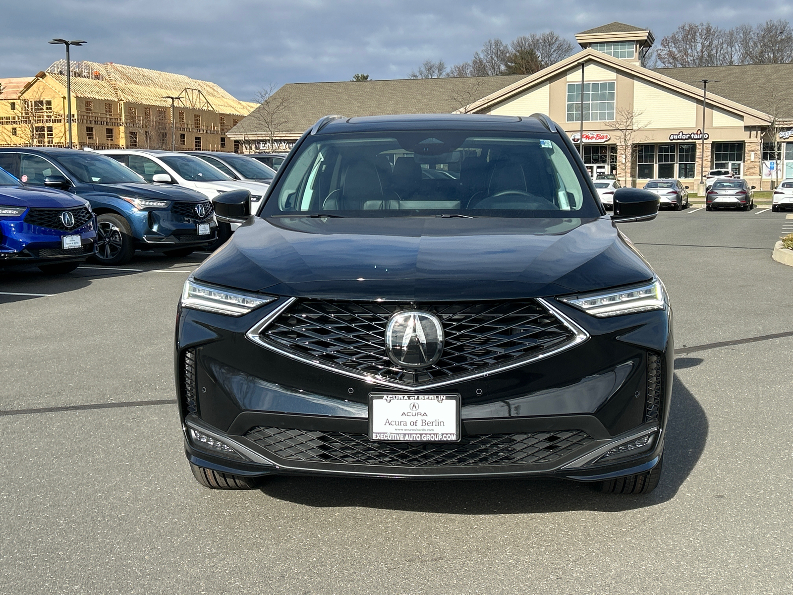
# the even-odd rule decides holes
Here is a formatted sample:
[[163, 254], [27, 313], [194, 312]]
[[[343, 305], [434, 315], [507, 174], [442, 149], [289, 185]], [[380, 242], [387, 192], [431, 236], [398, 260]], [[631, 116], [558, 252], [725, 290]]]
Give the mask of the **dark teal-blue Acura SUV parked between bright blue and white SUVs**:
[[25, 186], [85, 198], [97, 216], [94, 259], [119, 265], [136, 249], [186, 256], [216, 240], [212, 202], [193, 190], [150, 184], [114, 159], [64, 148], [0, 148], [0, 167]]

